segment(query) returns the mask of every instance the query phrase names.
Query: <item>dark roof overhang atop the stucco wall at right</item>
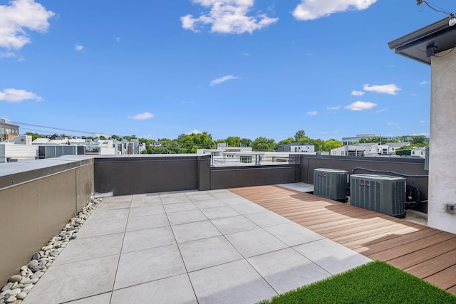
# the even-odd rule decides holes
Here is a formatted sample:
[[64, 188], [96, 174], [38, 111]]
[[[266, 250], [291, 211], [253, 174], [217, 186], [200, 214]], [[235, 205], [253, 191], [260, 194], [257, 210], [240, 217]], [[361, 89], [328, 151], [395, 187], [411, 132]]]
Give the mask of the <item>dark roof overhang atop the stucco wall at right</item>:
[[447, 17], [420, 28], [388, 42], [388, 46], [397, 54], [430, 65], [430, 58], [434, 54], [456, 46], [456, 26], [449, 26], [448, 20]]

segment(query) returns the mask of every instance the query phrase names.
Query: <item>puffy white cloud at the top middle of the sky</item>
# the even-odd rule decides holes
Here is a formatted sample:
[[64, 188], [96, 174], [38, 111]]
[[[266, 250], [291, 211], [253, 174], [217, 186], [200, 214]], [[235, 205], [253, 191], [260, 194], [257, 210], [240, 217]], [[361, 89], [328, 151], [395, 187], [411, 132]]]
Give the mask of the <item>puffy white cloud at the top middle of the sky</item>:
[[194, 18], [188, 14], [180, 18], [182, 28], [198, 32], [204, 25], [210, 25], [212, 33], [252, 33], [276, 23], [279, 18], [270, 18], [266, 14], [247, 16], [254, 0], [192, 0], [206, 9], [207, 14]]

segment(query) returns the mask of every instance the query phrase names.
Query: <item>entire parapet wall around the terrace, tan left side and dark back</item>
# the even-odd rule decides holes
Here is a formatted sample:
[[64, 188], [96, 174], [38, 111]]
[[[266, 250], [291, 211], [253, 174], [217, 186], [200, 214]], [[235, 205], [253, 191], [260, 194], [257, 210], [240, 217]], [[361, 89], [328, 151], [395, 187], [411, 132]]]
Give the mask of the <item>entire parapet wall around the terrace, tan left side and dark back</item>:
[[[423, 159], [299, 155], [293, 164], [211, 167], [209, 155], [68, 156], [0, 164], [0, 285], [95, 192], [113, 195], [314, 183], [314, 169], [426, 175]], [[355, 173], [371, 173], [357, 169]], [[427, 177], [407, 177], [427, 199]], [[423, 205], [426, 211], [427, 205]]]

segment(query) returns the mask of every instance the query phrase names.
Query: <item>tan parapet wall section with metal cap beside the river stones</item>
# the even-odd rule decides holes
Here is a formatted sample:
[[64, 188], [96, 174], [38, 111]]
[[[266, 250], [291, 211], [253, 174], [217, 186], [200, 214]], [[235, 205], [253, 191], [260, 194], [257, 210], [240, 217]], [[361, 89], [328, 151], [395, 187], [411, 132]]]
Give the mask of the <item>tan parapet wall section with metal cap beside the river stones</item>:
[[90, 201], [93, 159], [0, 164], [0, 285]]

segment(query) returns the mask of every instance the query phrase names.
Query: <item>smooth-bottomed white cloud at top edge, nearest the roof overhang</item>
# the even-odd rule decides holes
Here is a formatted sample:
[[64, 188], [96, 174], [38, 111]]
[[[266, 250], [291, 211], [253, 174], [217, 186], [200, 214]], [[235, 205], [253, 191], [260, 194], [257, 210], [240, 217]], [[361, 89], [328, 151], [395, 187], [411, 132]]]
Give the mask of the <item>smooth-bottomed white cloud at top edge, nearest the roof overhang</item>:
[[362, 11], [377, 0], [301, 0], [293, 11], [298, 20], [314, 20], [340, 11]]

